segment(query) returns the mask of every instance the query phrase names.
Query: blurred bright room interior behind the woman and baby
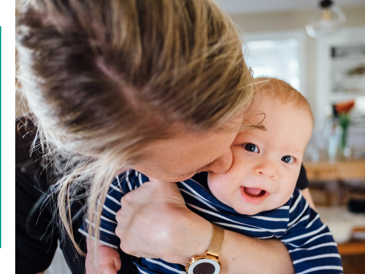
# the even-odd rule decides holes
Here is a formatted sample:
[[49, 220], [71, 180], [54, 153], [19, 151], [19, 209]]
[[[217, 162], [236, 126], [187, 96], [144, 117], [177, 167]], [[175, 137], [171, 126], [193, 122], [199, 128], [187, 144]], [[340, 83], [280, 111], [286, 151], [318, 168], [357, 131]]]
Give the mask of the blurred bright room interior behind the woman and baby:
[[[283, 79], [308, 99], [311, 194], [344, 273], [365, 273], [365, 0], [215, 1], [239, 27], [254, 77]], [[16, 95], [15, 116], [25, 105]], [[48, 273], [63, 267], [55, 256]]]

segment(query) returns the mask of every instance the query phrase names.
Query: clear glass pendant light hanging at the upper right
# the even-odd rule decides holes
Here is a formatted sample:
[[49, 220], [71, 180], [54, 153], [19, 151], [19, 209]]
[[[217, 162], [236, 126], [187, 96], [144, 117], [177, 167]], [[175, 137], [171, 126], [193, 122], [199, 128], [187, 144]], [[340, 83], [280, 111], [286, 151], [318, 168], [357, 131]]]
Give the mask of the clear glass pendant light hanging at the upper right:
[[310, 22], [306, 25], [308, 35], [314, 38], [333, 33], [341, 27], [346, 20], [342, 10], [331, 0], [319, 2], [317, 9]]

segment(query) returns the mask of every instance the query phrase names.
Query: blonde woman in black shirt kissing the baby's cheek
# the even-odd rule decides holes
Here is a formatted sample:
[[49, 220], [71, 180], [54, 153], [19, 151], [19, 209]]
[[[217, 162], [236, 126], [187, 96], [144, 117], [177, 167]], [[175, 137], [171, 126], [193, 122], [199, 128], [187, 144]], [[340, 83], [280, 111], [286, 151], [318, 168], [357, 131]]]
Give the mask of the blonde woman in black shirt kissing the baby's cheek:
[[[16, 122], [16, 151], [25, 136], [35, 138], [35, 152], [19, 158], [32, 164], [29, 173], [22, 166], [16, 176], [15, 214], [24, 220], [16, 223], [16, 273], [43, 271], [50, 262], [59, 232], [44, 229], [55, 212], [55, 194], [66, 258], [74, 273], [82, 272], [73, 247], [85, 252], [77, 235], [85, 197], [89, 220], [98, 224], [98, 201], [112, 178], [129, 168], [167, 181], [227, 171], [230, 144], [252, 97], [251, 73], [237, 30], [208, 0], [32, 0], [19, 7], [18, 73], [31, 113]], [[49, 173], [34, 172], [44, 167]], [[40, 173], [46, 178], [37, 179]], [[43, 182], [36, 190], [29, 179], [34, 174], [37, 184]], [[48, 187], [47, 181], [55, 183]], [[211, 224], [187, 210], [176, 189], [156, 183], [139, 191], [148, 199], [134, 194], [126, 195], [118, 213], [116, 233], [125, 252], [186, 263], [207, 249]], [[151, 212], [152, 203], [158, 212]], [[146, 239], [136, 243], [136, 232]], [[97, 240], [98, 225], [91, 233]], [[124, 271], [132, 271], [122, 256]], [[279, 241], [230, 231], [220, 260], [222, 273], [293, 272]]]

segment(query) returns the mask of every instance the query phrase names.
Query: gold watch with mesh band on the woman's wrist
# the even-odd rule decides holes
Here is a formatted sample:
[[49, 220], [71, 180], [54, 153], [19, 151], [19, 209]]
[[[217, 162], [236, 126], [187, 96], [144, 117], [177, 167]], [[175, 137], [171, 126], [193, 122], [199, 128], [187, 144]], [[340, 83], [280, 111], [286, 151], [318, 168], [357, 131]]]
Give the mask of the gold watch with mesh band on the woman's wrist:
[[219, 274], [219, 252], [223, 244], [224, 228], [213, 224], [212, 238], [203, 255], [194, 256], [185, 266], [187, 274]]

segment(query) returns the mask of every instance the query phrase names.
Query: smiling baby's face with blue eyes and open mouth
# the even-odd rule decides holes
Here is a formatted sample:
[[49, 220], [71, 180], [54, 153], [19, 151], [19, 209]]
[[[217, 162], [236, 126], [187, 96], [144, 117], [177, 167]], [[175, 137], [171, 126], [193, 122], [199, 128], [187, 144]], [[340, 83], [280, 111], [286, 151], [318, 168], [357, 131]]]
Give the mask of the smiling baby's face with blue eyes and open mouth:
[[[270, 96], [263, 96], [255, 109], [256, 114], [266, 114], [262, 123], [266, 131], [253, 128], [239, 133], [231, 145], [230, 170], [208, 174], [212, 194], [247, 215], [276, 209], [289, 200], [313, 127], [307, 110]], [[247, 120], [260, 122], [263, 117], [252, 114]]]

